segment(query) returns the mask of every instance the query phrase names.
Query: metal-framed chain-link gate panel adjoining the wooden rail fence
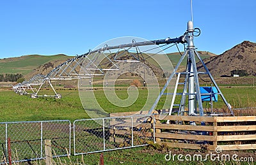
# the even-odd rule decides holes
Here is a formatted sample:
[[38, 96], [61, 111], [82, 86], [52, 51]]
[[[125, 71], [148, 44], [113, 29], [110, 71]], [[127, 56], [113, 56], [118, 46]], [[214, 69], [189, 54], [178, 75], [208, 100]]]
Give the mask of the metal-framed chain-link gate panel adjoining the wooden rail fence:
[[147, 145], [154, 140], [150, 116], [109, 117], [74, 122], [74, 155]]

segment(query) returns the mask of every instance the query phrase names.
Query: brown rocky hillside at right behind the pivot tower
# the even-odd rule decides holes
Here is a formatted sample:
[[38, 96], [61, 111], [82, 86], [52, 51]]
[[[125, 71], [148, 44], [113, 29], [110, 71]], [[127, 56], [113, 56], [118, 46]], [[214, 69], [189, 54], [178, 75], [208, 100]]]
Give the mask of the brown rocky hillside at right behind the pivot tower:
[[[256, 76], [256, 43], [243, 41], [221, 55], [204, 59], [204, 62], [214, 76], [230, 76], [234, 69]], [[198, 69], [203, 71], [202, 68], [198, 62]]]

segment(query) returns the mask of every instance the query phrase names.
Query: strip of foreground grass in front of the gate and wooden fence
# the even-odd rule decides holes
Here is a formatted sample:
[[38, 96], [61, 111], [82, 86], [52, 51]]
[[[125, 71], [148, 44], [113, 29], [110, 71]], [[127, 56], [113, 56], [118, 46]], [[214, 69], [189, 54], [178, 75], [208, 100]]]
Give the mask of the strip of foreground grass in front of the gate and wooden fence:
[[[180, 165], [192, 165], [192, 164], [203, 164], [203, 165], [212, 165], [212, 164], [253, 164], [253, 162], [235, 162], [235, 161], [211, 161], [211, 158], [208, 157], [206, 161], [178, 161], [177, 155], [175, 156], [175, 160], [166, 161], [164, 159], [164, 156], [169, 153], [169, 151], [172, 151], [172, 154], [175, 153], [177, 155], [182, 154], [202, 154], [202, 158], [205, 159], [205, 155], [209, 153], [202, 153], [195, 150], [179, 150], [179, 149], [168, 149], [166, 151], [159, 151], [155, 150], [154, 148], [150, 147], [140, 147], [140, 148], [130, 148], [125, 150], [114, 150], [111, 152], [104, 152], [104, 164], [180, 164]], [[215, 154], [215, 152], [212, 152], [212, 154]], [[233, 153], [234, 154], [234, 153]], [[237, 155], [239, 154], [239, 151], [236, 152]], [[232, 153], [230, 152], [230, 155], [232, 156]], [[248, 154], [248, 157], [250, 157], [250, 154]], [[183, 157], [184, 159], [184, 157]], [[193, 158], [192, 158], [193, 159]], [[95, 154], [86, 154], [86, 155], [79, 155], [76, 157], [70, 157], [70, 159], [67, 159], [67, 157], [61, 157], [58, 162], [76, 162], [74, 164], [95, 164], [97, 165], [100, 160], [100, 153]], [[221, 158], [220, 158], [221, 160]]]

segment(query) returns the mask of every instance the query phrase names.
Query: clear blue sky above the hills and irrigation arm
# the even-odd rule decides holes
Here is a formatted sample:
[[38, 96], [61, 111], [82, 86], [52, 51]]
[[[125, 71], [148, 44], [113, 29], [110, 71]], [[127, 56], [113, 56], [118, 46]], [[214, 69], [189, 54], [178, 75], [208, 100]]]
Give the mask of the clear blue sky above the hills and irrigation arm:
[[[1, 0], [0, 58], [28, 54], [84, 54], [122, 36], [181, 36], [190, 0]], [[221, 54], [244, 40], [256, 42], [255, 0], [193, 0], [198, 50]]]

